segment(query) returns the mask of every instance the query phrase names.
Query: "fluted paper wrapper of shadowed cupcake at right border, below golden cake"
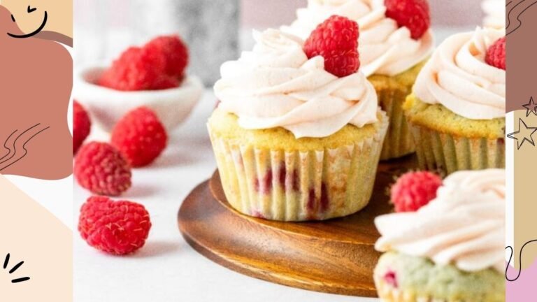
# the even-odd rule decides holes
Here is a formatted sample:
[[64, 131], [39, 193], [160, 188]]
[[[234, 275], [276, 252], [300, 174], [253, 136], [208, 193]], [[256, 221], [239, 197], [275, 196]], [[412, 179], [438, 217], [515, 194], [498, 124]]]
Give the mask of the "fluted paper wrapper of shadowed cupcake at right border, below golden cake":
[[415, 124], [410, 129], [416, 145], [420, 168], [444, 171], [505, 168], [506, 144], [503, 138], [466, 138], [452, 136]]

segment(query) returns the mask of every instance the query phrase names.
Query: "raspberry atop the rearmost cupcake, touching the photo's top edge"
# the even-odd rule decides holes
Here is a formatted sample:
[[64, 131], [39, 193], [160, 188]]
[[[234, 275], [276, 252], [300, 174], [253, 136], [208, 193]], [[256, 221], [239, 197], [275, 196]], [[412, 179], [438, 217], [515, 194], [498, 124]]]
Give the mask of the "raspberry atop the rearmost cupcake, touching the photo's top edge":
[[385, 0], [386, 17], [397, 22], [399, 27], [410, 30], [410, 36], [417, 40], [431, 27], [431, 13], [427, 0]]

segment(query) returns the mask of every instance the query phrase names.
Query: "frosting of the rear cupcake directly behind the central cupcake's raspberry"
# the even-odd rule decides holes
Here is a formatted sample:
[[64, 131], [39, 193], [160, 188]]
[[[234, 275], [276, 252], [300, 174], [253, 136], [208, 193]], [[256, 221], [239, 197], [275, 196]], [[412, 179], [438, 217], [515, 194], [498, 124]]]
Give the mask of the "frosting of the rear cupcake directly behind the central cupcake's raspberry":
[[361, 71], [366, 75], [396, 75], [427, 59], [434, 48], [429, 30], [420, 40], [406, 27], [385, 16], [384, 0], [308, 0], [296, 11], [297, 19], [282, 31], [304, 40], [331, 15], [341, 15], [359, 24], [358, 50]]

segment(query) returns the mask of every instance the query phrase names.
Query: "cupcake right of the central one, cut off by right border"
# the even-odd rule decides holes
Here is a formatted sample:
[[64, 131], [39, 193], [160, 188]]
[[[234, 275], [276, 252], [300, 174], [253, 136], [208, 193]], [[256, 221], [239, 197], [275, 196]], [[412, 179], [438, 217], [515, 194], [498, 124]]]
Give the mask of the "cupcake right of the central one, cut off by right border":
[[403, 110], [420, 167], [447, 173], [505, 167], [505, 31], [447, 38]]

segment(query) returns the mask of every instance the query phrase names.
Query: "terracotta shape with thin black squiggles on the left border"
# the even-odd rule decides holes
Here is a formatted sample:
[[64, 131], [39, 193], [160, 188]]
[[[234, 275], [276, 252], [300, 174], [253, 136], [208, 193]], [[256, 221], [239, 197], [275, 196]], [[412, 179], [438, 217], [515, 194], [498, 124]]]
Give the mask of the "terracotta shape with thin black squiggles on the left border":
[[55, 41], [20, 36], [0, 6], [0, 174], [65, 178], [72, 173], [73, 60]]

